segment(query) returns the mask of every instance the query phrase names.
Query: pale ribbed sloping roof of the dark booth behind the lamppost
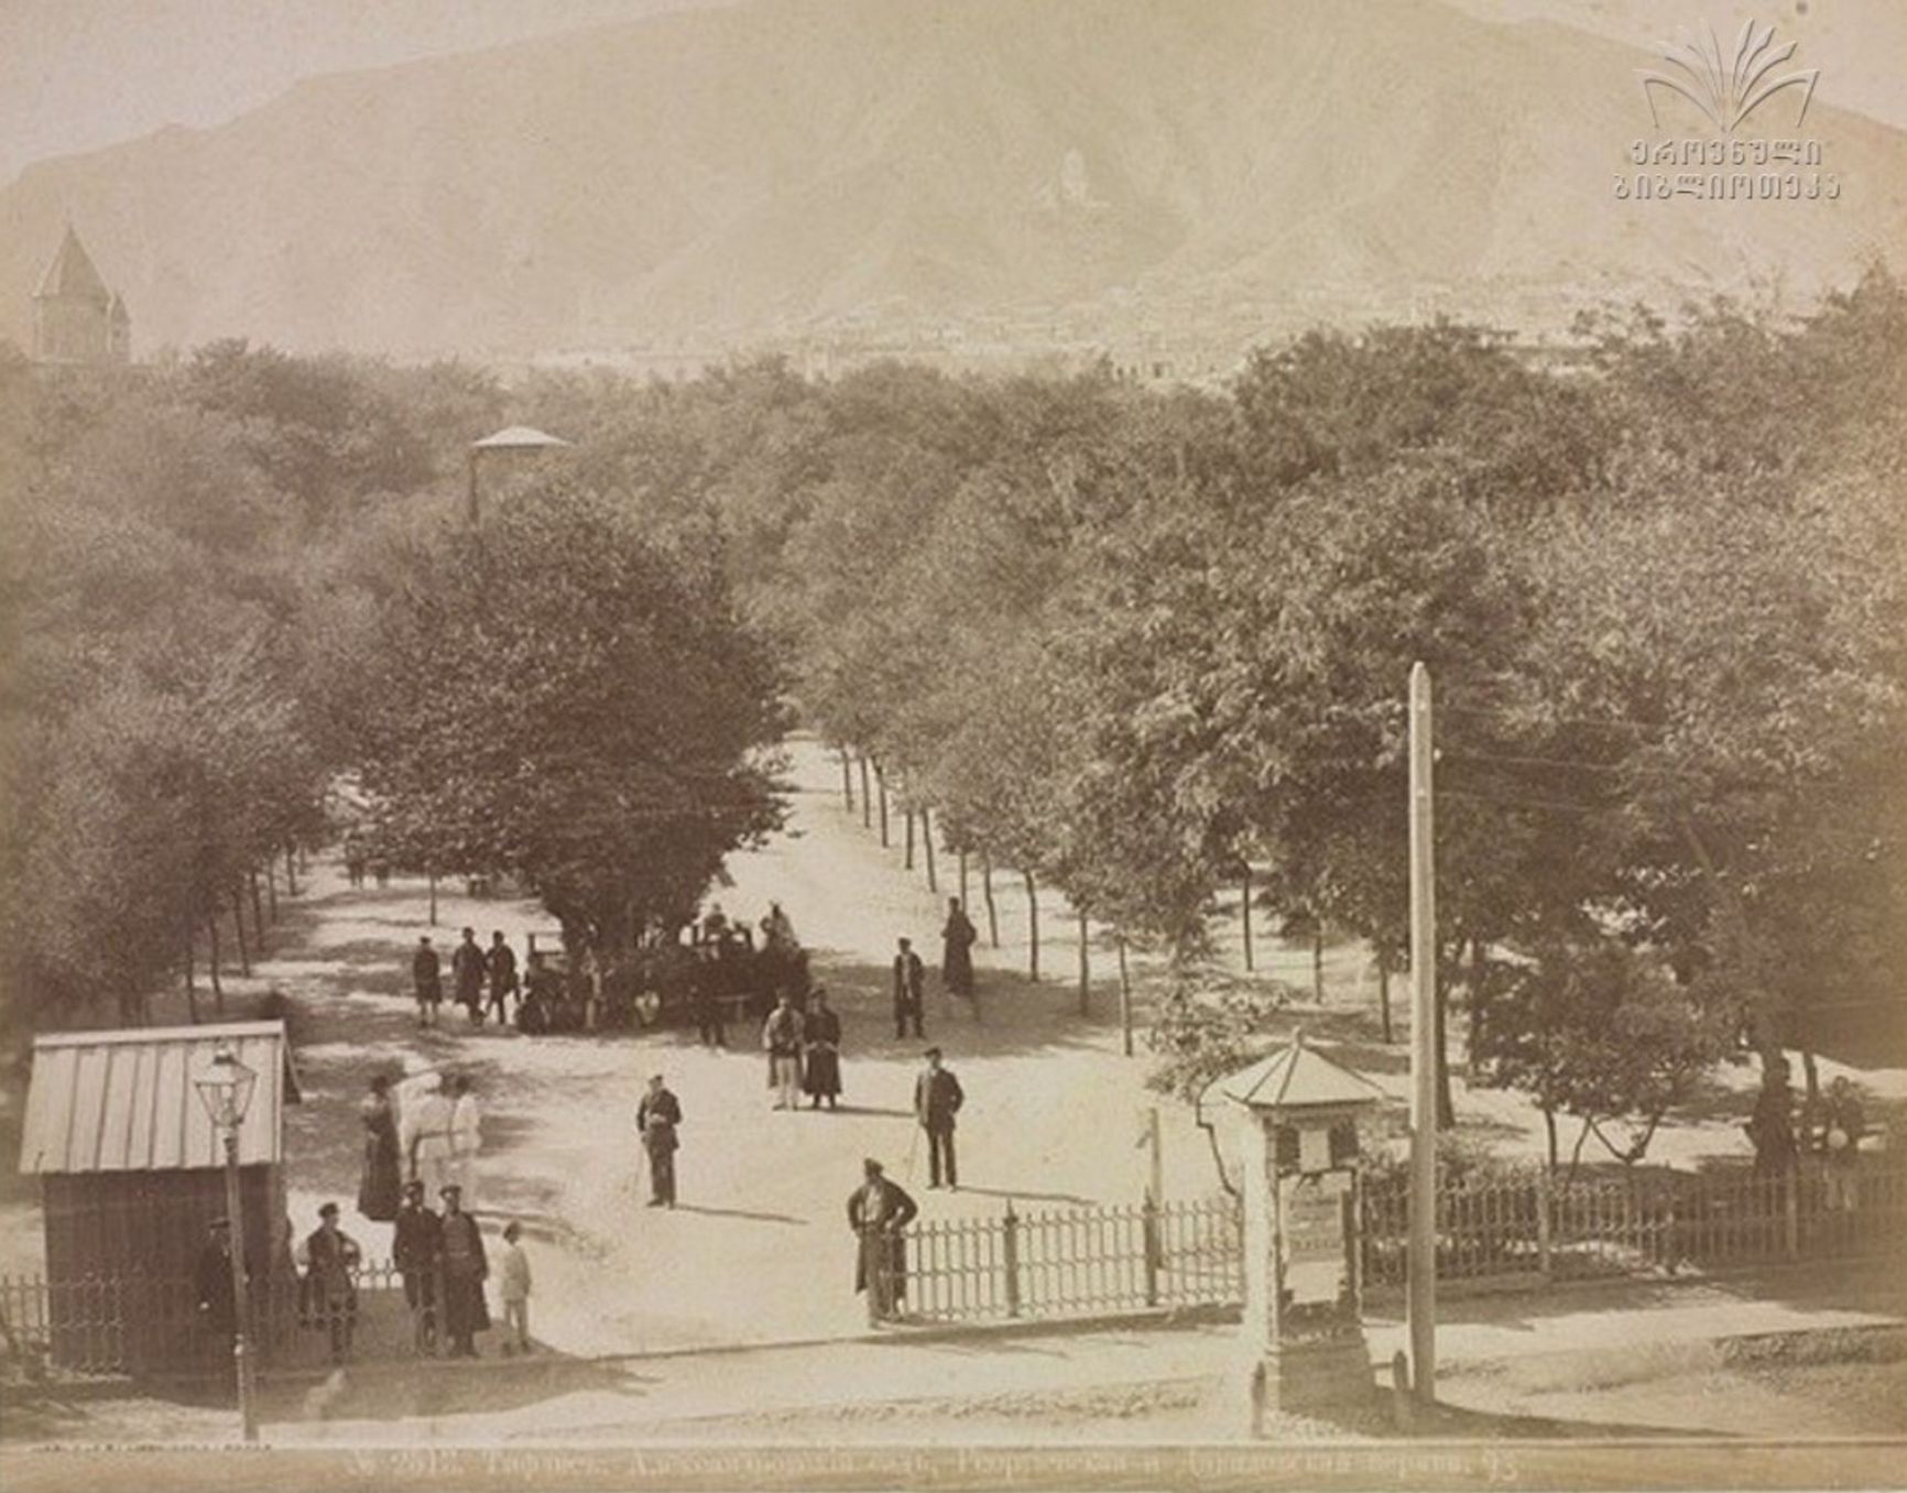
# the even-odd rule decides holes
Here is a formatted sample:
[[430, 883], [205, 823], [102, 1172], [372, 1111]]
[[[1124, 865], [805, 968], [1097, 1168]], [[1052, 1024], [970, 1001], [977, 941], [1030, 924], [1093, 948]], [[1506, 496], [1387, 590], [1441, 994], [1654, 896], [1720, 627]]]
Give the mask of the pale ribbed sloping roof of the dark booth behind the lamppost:
[[277, 1163], [297, 1074], [284, 1022], [50, 1032], [32, 1039], [19, 1169], [38, 1175], [225, 1165], [193, 1079], [225, 1045], [257, 1074], [238, 1125], [238, 1163]]

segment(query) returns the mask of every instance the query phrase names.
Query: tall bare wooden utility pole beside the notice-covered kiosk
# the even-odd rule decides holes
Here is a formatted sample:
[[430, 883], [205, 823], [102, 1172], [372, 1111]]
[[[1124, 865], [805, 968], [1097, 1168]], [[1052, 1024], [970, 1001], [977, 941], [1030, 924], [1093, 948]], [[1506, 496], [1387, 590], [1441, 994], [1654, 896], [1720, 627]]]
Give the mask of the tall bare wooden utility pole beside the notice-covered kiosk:
[[1411, 1390], [1436, 1400], [1436, 826], [1430, 671], [1411, 665]]

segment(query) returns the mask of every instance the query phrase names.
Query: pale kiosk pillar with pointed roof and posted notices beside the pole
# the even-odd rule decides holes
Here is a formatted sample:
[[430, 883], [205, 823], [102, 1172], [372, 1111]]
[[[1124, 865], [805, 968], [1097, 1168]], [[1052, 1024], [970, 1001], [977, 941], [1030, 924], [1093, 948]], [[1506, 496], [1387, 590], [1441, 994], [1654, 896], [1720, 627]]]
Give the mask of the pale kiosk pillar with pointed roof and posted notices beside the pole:
[[1243, 1348], [1262, 1409], [1369, 1401], [1358, 1241], [1358, 1115], [1383, 1091], [1304, 1045], [1222, 1077], [1245, 1190]]

